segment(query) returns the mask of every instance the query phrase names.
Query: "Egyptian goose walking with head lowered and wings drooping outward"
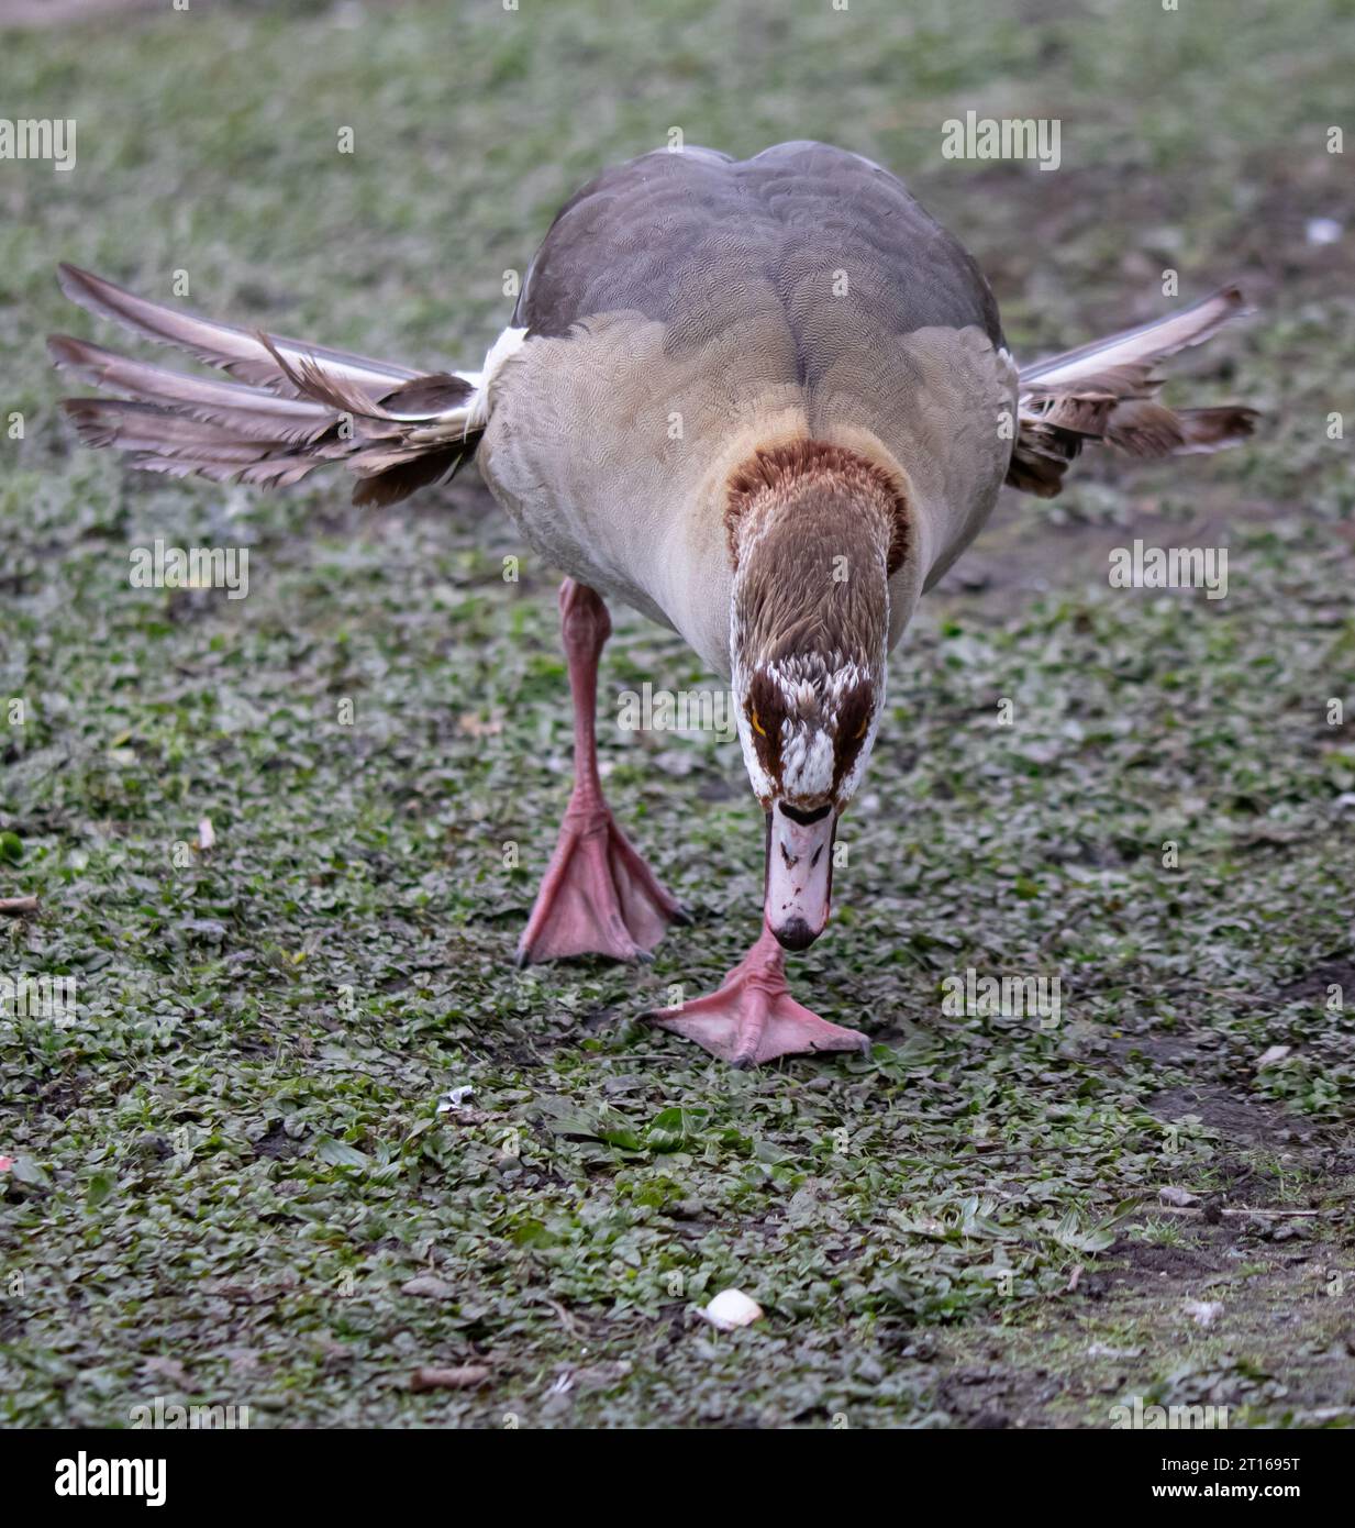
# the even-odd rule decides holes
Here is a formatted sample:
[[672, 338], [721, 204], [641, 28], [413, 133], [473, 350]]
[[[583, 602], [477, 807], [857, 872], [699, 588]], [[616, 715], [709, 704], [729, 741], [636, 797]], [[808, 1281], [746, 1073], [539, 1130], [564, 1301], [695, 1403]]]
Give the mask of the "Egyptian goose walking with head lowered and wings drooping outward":
[[718, 992], [651, 1015], [735, 1065], [854, 1050], [787, 989], [828, 921], [837, 821], [880, 726], [886, 659], [1002, 483], [1049, 497], [1086, 442], [1214, 451], [1254, 411], [1172, 411], [1158, 361], [1213, 335], [1234, 289], [1027, 370], [975, 261], [886, 170], [823, 144], [735, 160], [657, 151], [556, 217], [478, 373], [420, 374], [231, 329], [61, 267], [82, 307], [237, 380], [69, 338], [86, 442], [134, 466], [270, 487], [325, 463], [390, 503], [475, 454], [522, 536], [568, 576], [574, 787], [519, 961], [645, 955], [677, 900], [613, 819], [597, 662], [623, 601], [732, 680], [765, 811], [764, 920]]

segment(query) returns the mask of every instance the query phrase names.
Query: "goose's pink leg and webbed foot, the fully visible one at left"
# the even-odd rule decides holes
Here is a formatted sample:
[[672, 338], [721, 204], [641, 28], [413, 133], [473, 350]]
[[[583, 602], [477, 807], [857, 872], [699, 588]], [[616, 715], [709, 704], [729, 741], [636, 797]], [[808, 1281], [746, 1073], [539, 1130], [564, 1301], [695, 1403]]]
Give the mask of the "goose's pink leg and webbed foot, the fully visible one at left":
[[584, 584], [561, 584], [561, 630], [574, 698], [574, 790], [555, 856], [518, 941], [518, 964], [565, 955], [637, 960], [686, 921], [677, 900], [616, 825], [597, 775], [597, 659], [611, 636], [606, 605]]

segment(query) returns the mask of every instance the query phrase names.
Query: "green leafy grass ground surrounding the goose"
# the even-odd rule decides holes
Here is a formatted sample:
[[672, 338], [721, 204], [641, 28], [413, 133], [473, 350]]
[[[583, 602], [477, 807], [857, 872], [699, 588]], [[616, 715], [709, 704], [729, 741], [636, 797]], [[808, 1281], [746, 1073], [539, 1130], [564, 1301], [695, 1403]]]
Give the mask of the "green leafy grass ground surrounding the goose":
[[[1349, 1424], [1355, 235], [1308, 228], [1355, 226], [1355, 8], [276, 9], [3, 37], [6, 110], [76, 118], [79, 163], [0, 162], [0, 894], [41, 898], [0, 972], [73, 975], [79, 1008], [0, 1031], [0, 1416], [1104, 1427], [1141, 1395]], [[1059, 116], [1060, 171], [943, 160], [969, 108]], [[672, 125], [903, 171], [1025, 354], [1161, 312], [1164, 267], [1262, 310], [1187, 368], [1266, 410], [1253, 448], [1089, 465], [926, 602], [793, 967], [874, 1050], [753, 1076], [634, 1024], [755, 931], [736, 747], [605, 724], [697, 923], [642, 970], [509, 964], [568, 707], [555, 575], [474, 474], [377, 516], [145, 481], [73, 448], [40, 344], [92, 333], [72, 258], [474, 364], [555, 206]], [[1228, 545], [1227, 599], [1108, 588], [1137, 535]], [[156, 536], [247, 545], [249, 597], [130, 588]], [[703, 680], [616, 616], [605, 714]], [[947, 1016], [969, 966], [1059, 975], [1063, 1022]], [[694, 1309], [727, 1285], [767, 1316], [718, 1335]], [[487, 1375], [420, 1394], [425, 1365]]]

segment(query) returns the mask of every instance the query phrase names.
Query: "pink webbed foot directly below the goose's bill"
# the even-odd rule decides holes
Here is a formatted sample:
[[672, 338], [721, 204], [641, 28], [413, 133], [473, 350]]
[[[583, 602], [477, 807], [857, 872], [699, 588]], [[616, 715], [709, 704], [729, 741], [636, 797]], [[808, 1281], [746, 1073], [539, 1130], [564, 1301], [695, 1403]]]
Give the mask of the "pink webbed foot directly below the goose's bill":
[[785, 957], [765, 921], [758, 943], [718, 992], [677, 1008], [660, 1008], [648, 1018], [735, 1067], [759, 1067], [764, 1060], [805, 1051], [865, 1051], [871, 1045], [865, 1034], [829, 1024], [791, 998], [785, 986]]

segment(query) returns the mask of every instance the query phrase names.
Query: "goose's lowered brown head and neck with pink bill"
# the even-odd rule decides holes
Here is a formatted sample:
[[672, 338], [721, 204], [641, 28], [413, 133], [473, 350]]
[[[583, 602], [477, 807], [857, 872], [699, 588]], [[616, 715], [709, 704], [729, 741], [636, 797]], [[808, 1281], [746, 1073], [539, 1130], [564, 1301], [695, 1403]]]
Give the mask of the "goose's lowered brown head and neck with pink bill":
[[828, 923], [837, 824], [880, 727], [897, 506], [883, 472], [813, 442], [735, 477], [735, 720], [767, 814], [765, 920], [791, 950]]

